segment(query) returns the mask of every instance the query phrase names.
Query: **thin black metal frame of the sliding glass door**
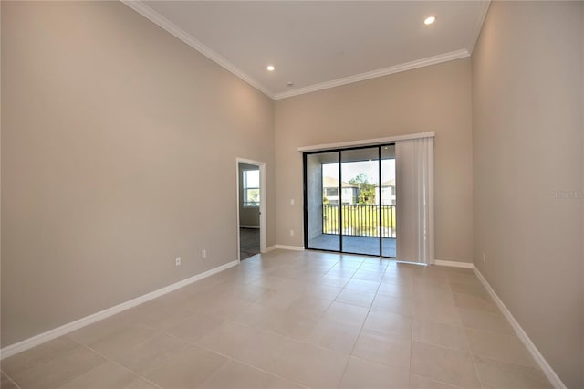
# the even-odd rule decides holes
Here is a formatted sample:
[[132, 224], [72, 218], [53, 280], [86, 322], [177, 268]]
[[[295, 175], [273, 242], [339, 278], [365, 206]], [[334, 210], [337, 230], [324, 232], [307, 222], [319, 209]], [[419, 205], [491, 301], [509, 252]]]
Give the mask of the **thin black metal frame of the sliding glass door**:
[[[342, 228], [342, 221], [343, 221], [343, 212], [342, 212], [342, 205], [343, 205], [343, 198], [342, 198], [342, 152], [348, 152], [351, 150], [364, 150], [364, 149], [375, 149], [377, 148], [378, 154], [378, 173], [379, 173], [379, 204], [377, 205], [379, 208], [379, 226], [381, 227], [382, 222], [382, 215], [381, 215], [381, 147], [386, 146], [395, 146], [395, 142], [387, 142], [381, 144], [371, 144], [371, 145], [363, 145], [363, 146], [354, 146], [354, 147], [344, 147], [338, 149], [325, 149], [325, 150], [315, 150], [315, 151], [308, 151], [302, 152], [302, 184], [303, 184], [303, 200], [304, 200], [304, 248], [308, 250], [318, 250], [318, 251], [327, 251], [327, 252], [334, 252], [334, 253], [343, 253], [343, 254], [353, 254], [353, 255], [363, 255], [363, 256], [370, 256], [370, 257], [379, 257], [379, 258], [392, 258], [395, 259], [396, 257], [384, 257], [383, 256], [383, 234], [380, 232], [379, 236], [379, 255], [374, 254], [362, 254], [362, 253], [352, 253], [348, 251], [343, 251], [343, 228]], [[339, 155], [339, 250], [332, 250], [332, 249], [325, 249], [325, 248], [310, 248], [308, 247], [308, 155], [312, 154], [322, 154], [327, 152], [337, 152]], [[320, 176], [322, 177], [322, 164], [320, 166]], [[322, 197], [322, 188], [320, 191]], [[320, 199], [322, 202], [322, 198]], [[391, 219], [392, 220], [392, 219]], [[397, 239], [397, 237], [396, 237]], [[397, 253], [396, 253], [397, 255]]]

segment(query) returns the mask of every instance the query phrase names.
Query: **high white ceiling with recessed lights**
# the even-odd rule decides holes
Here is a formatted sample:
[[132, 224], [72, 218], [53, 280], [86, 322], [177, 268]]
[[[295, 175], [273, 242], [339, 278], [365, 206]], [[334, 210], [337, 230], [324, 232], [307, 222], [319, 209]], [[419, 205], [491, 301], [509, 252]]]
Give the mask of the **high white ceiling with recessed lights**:
[[[467, 57], [489, 2], [125, 4], [268, 96], [282, 99]], [[425, 26], [427, 16], [436, 16], [435, 23]], [[267, 65], [276, 69], [267, 71]]]

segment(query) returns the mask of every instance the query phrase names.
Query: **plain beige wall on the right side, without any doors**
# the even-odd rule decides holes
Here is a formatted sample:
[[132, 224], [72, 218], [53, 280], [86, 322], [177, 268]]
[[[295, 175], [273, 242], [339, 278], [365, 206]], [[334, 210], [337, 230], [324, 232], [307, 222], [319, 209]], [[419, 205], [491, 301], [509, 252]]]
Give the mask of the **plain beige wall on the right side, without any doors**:
[[493, 2], [473, 54], [474, 264], [572, 388], [584, 386], [582, 6]]

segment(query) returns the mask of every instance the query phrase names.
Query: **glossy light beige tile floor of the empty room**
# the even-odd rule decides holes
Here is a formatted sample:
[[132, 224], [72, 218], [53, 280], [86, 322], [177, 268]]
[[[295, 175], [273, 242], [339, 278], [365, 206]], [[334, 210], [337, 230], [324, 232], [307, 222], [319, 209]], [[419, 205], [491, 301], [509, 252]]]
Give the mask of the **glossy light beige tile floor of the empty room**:
[[551, 387], [472, 270], [246, 259], [2, 362], [2, 388]]

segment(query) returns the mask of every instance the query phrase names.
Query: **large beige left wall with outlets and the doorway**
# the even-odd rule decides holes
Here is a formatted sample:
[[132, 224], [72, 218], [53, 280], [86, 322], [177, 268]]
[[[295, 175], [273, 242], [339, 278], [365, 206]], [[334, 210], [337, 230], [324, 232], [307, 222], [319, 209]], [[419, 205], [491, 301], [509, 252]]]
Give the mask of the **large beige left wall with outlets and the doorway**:
[[118, 2], [2, 2], [2, 345], [235, 260], [236, 157], [275, 244], [273, 106]]

